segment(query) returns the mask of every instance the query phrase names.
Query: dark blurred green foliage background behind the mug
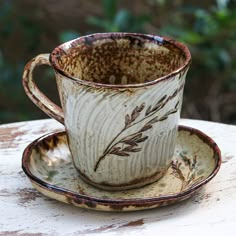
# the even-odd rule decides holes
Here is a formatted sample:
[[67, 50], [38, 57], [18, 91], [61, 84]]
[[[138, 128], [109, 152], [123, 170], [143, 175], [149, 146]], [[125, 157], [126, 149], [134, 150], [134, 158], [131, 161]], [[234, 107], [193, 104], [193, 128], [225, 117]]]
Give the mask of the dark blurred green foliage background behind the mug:
[[[188, 45], [182, 117], [236, 124], [236, 1], [0, 0], [0, 123], [45, 118], [21, 85], [24, 65], [94, 32], [143, 32]], [[59, 103], [52, 69], [35, 72]]]

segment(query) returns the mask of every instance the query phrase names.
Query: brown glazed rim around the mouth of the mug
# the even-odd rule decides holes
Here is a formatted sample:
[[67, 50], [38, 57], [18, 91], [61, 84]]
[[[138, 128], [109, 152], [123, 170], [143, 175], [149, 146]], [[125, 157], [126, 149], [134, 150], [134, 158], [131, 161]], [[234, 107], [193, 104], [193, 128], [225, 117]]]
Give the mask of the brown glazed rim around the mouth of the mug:
[[[71, 76], [69, 73], [66, 73], [58, 65], [58, 57], [60, 57], [60, 53], [64, 53], [65, 51], [68, 50], [68, 48], [73, 48], [81, 43], [90, 42], [90, 40], [99, 40], [99, 39], [106, 39], [106, 38], [122, 38], [122, 37], [141, 37], [143, 39], [154, 41], [160, 45], [172, 44], [176, 48], [179, 48], [184, 53], [184, 56], [186, 58], [185, 62], [181, 67], [177, 68], [176, 70], [172, 71], [171, 73], [169, 73], [165, 76], [159, 77], [156, 80], [146, 82], [146, 83], [123, 84], [123, 85], [122, 84], [102, 84], [102, 83], [95, 83], [95, 82], [91, 82], [91, 81], [81, 80], [77, 77]], [[117, 32], [117, 33], [90, 34], [90, 35], [79, 37], [77, 39], [63, 43], [60, 46], [56, 47], [51, 52], [49, 60], [50, 60], [50, 63], [55, 71], [57, 71], [61, 75], [66, 76], [68, 79], [72, 79], [73, 81], [80, 83], [80, 84], [84, 84], [84, 85], [91, 86], [91, 87], [102, 87], [102, 88], [138, 88], [138, 87], [154, 85], [156, 83], [159, 83], [160, 81], [166, 80], [168, 78], [172, 78], [176, 74], [186, 71], [189, 68], [189, 65], [191, 63], [191, 54], [190, 54], [189, 49], [183, 43], [177, 42], [177, 41], [170, 39], [168, 37], [161, 37], [158, 35], [151, 35], [151, 34]]]

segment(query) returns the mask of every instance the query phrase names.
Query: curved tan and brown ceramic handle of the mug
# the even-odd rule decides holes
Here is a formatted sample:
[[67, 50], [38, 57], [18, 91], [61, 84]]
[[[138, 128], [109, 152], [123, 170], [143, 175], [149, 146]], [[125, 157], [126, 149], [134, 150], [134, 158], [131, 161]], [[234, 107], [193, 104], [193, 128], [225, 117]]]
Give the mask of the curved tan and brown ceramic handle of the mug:
[[26, 64], [23, 72], [22, 83], [27, 96], [36, 106], [38, 106], [48, 116], [64, 124], [64, 114], [61, 107], [53, 103], [46, 95], [44, 95], [39, 90], [33, 79], [33, 71], [36, 66], [51, 66], [49, 55], [50, 54], [48, 53], [40, 54]]

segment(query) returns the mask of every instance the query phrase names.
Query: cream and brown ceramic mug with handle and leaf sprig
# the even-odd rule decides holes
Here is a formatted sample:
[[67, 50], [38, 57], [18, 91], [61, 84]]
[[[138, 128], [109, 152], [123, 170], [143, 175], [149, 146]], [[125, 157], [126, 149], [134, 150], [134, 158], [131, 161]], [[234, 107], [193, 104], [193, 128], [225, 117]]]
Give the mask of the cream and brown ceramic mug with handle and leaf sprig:
[[[171, 163], [191, 56], [174, 40], [136, 33], [77, 38], [24, 69], [29, 98], [65, 125], [80, 178], [106, 190], [140, 187]], [[62, 108], [36, 86], [36, 66], [55, 72]]]

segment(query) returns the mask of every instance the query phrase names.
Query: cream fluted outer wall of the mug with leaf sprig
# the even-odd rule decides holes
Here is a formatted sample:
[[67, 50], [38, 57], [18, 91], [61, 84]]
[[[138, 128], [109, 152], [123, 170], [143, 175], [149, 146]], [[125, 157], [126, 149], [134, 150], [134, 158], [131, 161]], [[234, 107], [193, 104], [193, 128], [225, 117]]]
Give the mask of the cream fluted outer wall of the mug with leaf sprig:
[[174, 152], [184, 81], [185, 74], [179, 74], [147, 87], [93, 88], [57, 74], [79, 172], [91, 182], [118, 186], [165, 171]]

